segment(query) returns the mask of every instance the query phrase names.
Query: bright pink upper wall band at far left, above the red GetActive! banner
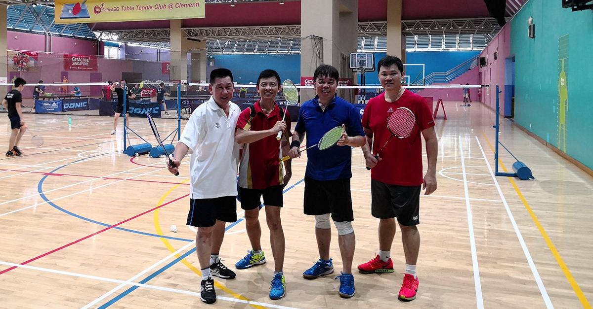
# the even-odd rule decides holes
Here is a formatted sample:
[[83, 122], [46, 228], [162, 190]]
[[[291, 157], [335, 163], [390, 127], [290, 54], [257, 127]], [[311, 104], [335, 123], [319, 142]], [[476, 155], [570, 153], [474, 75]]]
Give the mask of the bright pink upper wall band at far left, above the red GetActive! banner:
[[53, 36], [51, 39], [50, 50], [46, 50], [46, 36], [44, 34], [16, 31], [8, 31], [7, 48], [8, 50], [52, 51], [53, 53], [62, 54], [97, 54], [97, 45], [95, 41], [92, 40]]

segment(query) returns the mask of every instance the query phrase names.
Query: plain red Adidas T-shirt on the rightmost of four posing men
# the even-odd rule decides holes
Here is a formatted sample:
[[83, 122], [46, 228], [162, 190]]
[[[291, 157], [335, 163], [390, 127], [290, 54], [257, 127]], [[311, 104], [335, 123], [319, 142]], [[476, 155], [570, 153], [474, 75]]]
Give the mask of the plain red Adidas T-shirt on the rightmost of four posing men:
[[422, 137], [420, 133], [435, 125], [431, 110], [422, 96], [406, 90], [395, 102], [385, 101], [385, 92], [366, 104], [362, 126], [373, 132], [372, 153], [377, 153], [391, 136], [387, 118], [400, 107], [409, 108], [416, 116], [412, 134], [405, 139], [393, 137], [381, 152], [381, 161], [371, 169], [371, 178], [385, 184], [417, 186], [423, 182]]

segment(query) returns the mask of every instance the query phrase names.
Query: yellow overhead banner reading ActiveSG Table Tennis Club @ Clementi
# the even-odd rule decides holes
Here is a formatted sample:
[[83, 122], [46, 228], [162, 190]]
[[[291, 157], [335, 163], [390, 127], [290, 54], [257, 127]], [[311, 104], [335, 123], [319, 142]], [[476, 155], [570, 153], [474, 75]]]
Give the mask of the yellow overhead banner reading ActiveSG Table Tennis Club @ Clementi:
[[56, 0], [56, 24], [204, 18], [205, 0]]

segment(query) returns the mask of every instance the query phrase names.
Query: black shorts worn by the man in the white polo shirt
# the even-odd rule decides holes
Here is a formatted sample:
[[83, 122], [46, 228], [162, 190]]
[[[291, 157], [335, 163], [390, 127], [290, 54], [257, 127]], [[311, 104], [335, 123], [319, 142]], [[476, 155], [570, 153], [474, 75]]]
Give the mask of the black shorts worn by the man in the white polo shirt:
[[237, 221], [237, 197], [190, 199], [188, 226], [211, 227], [216, 220]]

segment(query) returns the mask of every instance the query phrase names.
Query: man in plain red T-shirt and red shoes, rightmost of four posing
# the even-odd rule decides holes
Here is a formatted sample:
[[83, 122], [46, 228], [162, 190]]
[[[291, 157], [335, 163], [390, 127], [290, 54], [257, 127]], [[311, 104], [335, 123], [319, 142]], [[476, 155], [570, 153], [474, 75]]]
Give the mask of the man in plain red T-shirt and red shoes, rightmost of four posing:
[[[390, 251], [396, 234], [397, 217], [406, 255], [406, 273], [398, 299], [411, 301], [416, 298], [419, 284], [416, 260], [420, 248], [420, 234], [416, 225], [420, 223], [420, 186], [423, 185], [426, 189], [425, 195], [436, 190], [438, 142], [435, 121], [426, 101], [401, 87], [403, 64], [399, 58], [386, 56], [379, 61], [377, 67], [379, 81], [385, 91], [366, 104], [362, 116], [366, 144], [362, 147], [362, 152], [366, 166], [371, 168], [371, 213], [373, 217], [380, 219], [379, 255], [359, 265], [358, 270], [362, 273], [393, 272]], [[378, 153], [391, 136], [387, 128], [387, 118], [400, 107], [406, 107], [413, 112], [416, 117], [415, 128], [405, 139], [392, 138], [376, 160], [373, 154]], [[424, 178], [421, 133], [426, 140], [428, 155], [428, 169]]]

